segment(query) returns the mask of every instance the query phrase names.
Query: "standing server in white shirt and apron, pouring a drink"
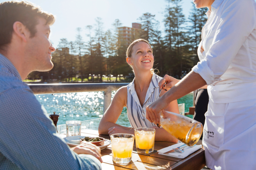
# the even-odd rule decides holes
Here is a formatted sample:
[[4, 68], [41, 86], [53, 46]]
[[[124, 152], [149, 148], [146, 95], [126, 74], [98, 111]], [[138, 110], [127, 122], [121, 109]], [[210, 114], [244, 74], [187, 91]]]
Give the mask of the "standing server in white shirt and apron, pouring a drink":
[[256, 3], [193, 1], [197, 8], [209, 8], [198, 47], [200, 62], [180, 81], [164, 77], [169, 83], [165, 88], [172, 88], [146, 108], [146, 117], [158, 123], [158, 113], [167, 103], [208, 85], [203, 137], [207, 167], [253, 170], [256, 168]]

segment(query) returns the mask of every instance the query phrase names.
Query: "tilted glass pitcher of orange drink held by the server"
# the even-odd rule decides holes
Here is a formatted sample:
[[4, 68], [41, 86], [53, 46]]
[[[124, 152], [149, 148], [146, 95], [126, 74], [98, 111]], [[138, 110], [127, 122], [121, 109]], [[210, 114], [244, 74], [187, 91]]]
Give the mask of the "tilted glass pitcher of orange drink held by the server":
[[203, 125], [200, 122], [169, 111], [160, 112], [160, 125], [189, 146], [196, 144], [203, 132]]

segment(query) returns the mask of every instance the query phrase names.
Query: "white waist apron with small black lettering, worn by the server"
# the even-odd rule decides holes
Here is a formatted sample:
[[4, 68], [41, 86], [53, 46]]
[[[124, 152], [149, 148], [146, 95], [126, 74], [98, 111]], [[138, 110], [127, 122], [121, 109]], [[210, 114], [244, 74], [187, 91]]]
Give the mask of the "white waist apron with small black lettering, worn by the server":
[[209, 100], [205, 117], [207, 167], [256, 170], [256, 99], [221, 104]]

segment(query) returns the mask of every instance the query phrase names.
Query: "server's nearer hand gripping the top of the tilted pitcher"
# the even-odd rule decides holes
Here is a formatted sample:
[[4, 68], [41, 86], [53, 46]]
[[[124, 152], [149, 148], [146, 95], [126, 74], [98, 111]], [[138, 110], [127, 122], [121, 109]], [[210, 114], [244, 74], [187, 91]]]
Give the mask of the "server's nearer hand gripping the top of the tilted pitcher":
[[164, 96], [166, 96], [166, 94], [146, 107], [146, 118], [149, 120], [149, 122], [156, 125], [160, 125], [160, 111], [166, 109], [169, 105], [169, 102], [164, 99]]

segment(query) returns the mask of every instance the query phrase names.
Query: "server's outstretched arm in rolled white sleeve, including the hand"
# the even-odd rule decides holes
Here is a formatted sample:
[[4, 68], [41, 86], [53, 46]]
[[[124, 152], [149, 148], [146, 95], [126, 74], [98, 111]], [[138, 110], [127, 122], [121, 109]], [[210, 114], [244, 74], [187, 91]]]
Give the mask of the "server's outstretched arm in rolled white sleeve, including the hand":
[[[159, 112], [167, 107], [166, 102], [179, 99], [204, 85], [219, 81], [227, 71], [244, 41], [256, 27], [256, 15], [251, 1], [227, 1], [221, 13], [218, 31], [211, 34], [212, 44], [205, 51], [206, 57], [192, 71], [168, 91], [161, 100], [147, 108], [147, 119], [159, 122]], [[214, 26], [214, 25], [212, 25]], [[234, 29], [235, 28], [235, 29]]]

